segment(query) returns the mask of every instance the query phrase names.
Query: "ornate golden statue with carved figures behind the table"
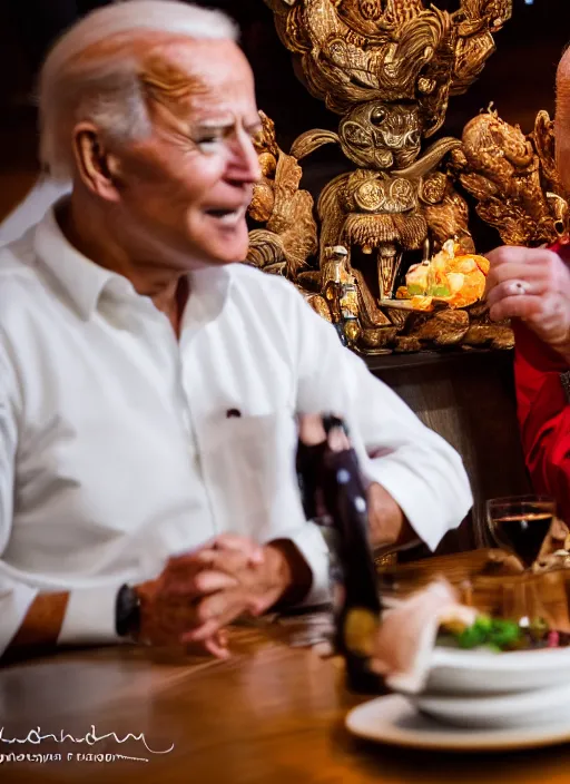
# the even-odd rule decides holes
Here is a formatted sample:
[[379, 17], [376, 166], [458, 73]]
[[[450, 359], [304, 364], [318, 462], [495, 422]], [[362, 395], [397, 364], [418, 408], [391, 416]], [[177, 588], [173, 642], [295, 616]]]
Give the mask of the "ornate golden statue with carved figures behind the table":
[[[363, 353], [433, 343], [511, 346], [508, 326], [490, 324], [478, 302], [487, 273], [460, 189], [505, 242], [540, 244], [563, 233], [568, 203], [550, 118], [541, 112], [525, 137], [489, 111], [468, 124], [462, 140], [423, 143], [442, 128], [450, 97], [480, 75], [512, 0], [461, 0], [453, 12], [424, 0], [265, 2], [307, 89], [341, 119], [337, 133], [304, 133], [287, 156], [264, 118], [265, 176], [250, 215], [267, 228], [252, 233], [249, 261], [286, 274]], [[298, 161], [325, 144], [338, 145], [355, 168], [318, 198], [316, 270], [307, 266], [317, 234], [311, 196], [298, 189]], [[430, 270], [446, 287], [413, 294]], [[340, 304], [343, 286], [350, 306]]]

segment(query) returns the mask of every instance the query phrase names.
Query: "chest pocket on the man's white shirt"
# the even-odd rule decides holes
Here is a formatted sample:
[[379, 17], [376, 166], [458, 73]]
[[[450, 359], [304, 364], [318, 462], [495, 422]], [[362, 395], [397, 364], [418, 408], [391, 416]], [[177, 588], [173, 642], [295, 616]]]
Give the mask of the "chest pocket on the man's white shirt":
[[202, 469], [218, 533], [232, 531], [263, 542], [305, 521], [291, 410], [212, 418], [200, 430]]

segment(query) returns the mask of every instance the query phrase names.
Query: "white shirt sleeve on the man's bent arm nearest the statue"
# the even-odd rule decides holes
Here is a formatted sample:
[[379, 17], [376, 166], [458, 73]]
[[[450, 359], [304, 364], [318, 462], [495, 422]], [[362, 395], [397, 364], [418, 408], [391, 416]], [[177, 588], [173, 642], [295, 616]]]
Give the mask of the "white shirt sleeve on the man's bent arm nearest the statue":
[[301, 297], [298, 306], [297, 410], [345, 416], [365, 479], [387, 490], [434, 550], [473, 502], [461, 458]]

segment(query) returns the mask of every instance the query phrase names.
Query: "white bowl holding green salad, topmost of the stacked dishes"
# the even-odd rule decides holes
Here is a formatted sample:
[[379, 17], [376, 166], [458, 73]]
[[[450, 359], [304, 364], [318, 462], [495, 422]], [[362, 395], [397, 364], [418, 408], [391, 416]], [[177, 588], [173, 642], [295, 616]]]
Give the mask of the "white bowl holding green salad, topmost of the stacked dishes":
[[501, 694], [570, 683], [570, 648], [485, 650], [435, 648], [425, 693]]

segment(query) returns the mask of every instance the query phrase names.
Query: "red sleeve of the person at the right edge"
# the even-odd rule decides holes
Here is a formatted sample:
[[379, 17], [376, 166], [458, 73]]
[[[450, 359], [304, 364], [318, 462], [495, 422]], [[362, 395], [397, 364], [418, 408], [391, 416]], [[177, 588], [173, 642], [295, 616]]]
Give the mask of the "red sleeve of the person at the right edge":
[[570, 525], [570, 402], [561, 380], [570, 367], [521, 323], [514, 324], [514, 336], [517, 402], [527, 468], [535, 492], [554, 498], [559, 517]]

